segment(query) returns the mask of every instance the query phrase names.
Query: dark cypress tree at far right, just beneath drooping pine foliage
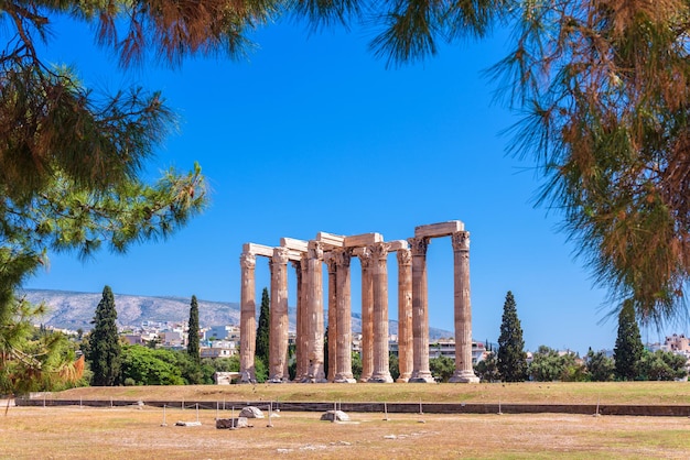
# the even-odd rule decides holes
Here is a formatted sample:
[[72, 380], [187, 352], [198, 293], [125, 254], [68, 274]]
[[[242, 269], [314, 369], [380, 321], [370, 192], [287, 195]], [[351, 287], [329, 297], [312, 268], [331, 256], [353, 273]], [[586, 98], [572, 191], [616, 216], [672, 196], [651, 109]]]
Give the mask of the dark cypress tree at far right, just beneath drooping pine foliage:
[[635, 319], [633, 303], [625, 302], [618, 314], [618, 335], [613, 349], [615, 375], [619, 380], [635, 380], [638, 376], [637, 365], [643, 357], [643, 340]]

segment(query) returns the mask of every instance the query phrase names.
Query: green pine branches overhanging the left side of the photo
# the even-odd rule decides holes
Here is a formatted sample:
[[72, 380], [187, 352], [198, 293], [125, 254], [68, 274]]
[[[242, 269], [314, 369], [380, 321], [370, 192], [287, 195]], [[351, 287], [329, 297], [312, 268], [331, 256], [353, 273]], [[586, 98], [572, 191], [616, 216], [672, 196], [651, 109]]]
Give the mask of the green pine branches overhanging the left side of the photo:
[[[137, 13], [128, 15], [127, 9]], [[0, 6], [6, 39], [0, 53], [0, 359], [1, 368], [15, 369], [15, 375], [33, 369], [23, 376], [30, 386], [26, 379], [37, 383], [50, 373], [67, 383], [74, 375], [68, 371], [72, 363], [57, 364], [60, 347], [46, 342], [37, 360], [26, 359], [32, 352], [22, 349], [30, 342], [21, 337], [28, 315], [39, 311], [17, 302], [13, 293], [47, 264], [47, 251], [72, 250], [87, 258], [107, 242], [123, 252], [132, 243], [169, 237], [206, 202], [198, 166], [186, 175], [171, 169], [151, 185], [142, 179], [154, 147], [175, 123], [160, 94], [140, 88], [96, 94], [82, 85], [73, 68], [47, 64], [40, 54], [50, 45], [58, 17], [99, 24], [95, 30], [104, 45], [122, 45], [123, 64], [144, 50], [172, 45], [174, 24], [201, 20], [184, 9], [186, 20], [171, 23], [170, 17], [153, 10], [123, 1], [106, 6], [15, 0]], [[214, 21], [227, 18], [218, 14]], [[244, 21], [241, 14], [237, 18]], [[145, 22], [149, 36], [125, 34], [123, 41], [116, 40], [116, 24], [134, 31], [139, 22]], [[159, 33], [151, 33], [159, 26]], [[194, 53], [202, 42], [213, 43], [208, 36], [214, 33], [233, 35], [224, 31], [207, 30], [205, 39], [176, 35], [173, 47], [181, 41], [196, 42], [177, 48], [179, 54]], [[151, 46], [144, 47], [144, 41]]]

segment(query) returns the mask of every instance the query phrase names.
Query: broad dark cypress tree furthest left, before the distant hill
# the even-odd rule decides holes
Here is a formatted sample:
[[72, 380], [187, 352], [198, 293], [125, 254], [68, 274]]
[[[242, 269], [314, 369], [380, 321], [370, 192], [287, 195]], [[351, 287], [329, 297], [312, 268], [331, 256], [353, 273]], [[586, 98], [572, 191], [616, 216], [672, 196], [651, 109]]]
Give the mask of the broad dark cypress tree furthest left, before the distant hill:
[[117, 330], [117, 310], [110, 286], [105, 286], [103, 297], [96, 307], [91, 321], [94, 329], [89, 337], [88, 361], [91, 384], [114, 386], [120, 382], [121, 348]]

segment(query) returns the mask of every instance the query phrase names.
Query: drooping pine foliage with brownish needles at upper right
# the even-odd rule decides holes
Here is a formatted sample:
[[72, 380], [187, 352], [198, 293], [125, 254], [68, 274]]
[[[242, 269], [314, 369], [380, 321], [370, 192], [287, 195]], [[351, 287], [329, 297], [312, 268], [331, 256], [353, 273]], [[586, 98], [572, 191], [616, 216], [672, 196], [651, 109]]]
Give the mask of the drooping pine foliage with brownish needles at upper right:
[[525, 113], [513, 147], [539, 162], [540, 201], [642, 321], [684, 314], [690, 3], [511, 3], [515, 48], [495, 75]]

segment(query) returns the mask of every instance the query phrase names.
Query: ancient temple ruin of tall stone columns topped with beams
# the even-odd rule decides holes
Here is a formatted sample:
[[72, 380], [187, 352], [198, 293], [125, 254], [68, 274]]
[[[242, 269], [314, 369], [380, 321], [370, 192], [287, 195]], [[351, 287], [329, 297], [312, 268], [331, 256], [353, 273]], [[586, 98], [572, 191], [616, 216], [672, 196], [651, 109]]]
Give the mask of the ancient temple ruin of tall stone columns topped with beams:
[[[451, 382], [475, 383], [472, 369], [470, 232], [460, 220], [420, 226], [414, 237], [384, 241], [380, 233], [343, 237], [320, 232], [311, 241], [283, 238], [280, 247], [246, 243], [240, 255], [240, 373], [255, 380], [257, 256], [267, 258], [270, 281], [269, 382], [288, 374], [288, 264], [297, 271], [295, 382], [355, 383], [352, 372], [352, 258], [362, 266], [360, 382], [392, 382], [388, 366], [388, 254], [398, 260], [398, 382], [434, 382], [429, 370], [427, 248], [451, 237], [454, 254], [455, 372]], [[323, 265], [328, 276], [328, 350], [324, 350]], [[328, 355], [328, 369], [324, 355]]]

